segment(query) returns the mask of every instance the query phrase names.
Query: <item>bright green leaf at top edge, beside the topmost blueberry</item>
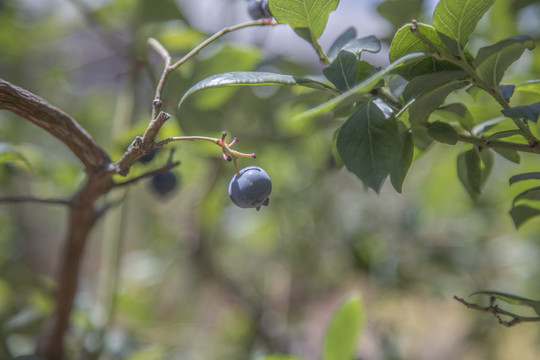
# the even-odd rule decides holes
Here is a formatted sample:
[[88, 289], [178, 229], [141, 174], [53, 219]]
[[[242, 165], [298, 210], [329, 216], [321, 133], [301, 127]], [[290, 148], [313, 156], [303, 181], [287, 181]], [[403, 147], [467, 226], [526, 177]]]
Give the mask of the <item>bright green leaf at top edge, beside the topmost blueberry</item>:
[[278, 23], [288, 24], [304, 39], [314, 43], [321, 36], [328, 16], [337, 8], [339, 0], [271, 0], [269, 4]]

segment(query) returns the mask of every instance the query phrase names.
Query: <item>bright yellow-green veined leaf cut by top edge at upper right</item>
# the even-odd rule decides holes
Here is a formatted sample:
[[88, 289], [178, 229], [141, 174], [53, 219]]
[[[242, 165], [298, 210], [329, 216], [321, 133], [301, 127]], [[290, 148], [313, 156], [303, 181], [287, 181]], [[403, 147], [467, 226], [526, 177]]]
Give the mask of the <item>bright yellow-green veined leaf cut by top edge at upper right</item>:
[[433, 13], [433, 26], [456, 39], [461, 46], [469, 41], [474, 28], [495, 0], [441, 0]]

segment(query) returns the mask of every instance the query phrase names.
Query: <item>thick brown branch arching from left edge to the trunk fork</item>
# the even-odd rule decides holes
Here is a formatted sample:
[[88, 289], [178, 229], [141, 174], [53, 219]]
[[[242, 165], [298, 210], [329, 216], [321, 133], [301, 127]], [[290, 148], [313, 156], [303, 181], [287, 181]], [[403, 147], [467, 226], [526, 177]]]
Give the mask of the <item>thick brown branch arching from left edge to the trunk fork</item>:
[[0, 109], [9, 110], [66, 144], [93, 173], [110, 163], [107, 154], [71, 116], [44, 99], [0, 78]]

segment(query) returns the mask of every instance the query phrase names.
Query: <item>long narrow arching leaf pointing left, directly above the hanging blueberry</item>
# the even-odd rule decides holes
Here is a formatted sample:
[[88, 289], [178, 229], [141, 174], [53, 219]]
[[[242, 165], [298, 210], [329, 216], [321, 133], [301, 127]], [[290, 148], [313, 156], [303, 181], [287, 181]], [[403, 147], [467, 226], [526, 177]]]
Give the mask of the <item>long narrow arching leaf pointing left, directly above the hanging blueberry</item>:
[[233, 71], [223, 74], [216, 74], [203, 79], [189, 88], [182, 96], [178, 107], [193, 93], [210, 88], [230, 87], [230, 86], [263, 86], [263, 85], [299, 85], [318, 90], [325, 90], [336, 94], [336, 90], [324, 83], [302, 78], [293, 75], [282, 75], [270, 72], [259, 71]]

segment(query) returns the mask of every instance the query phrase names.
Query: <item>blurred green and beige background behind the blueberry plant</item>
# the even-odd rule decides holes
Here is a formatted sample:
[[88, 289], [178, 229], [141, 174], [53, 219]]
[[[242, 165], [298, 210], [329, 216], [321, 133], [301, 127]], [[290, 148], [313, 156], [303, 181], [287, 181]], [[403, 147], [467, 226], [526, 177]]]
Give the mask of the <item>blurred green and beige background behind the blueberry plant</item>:
[[[436, 4], [396, 1], [383, 17], [381, 3], [342, 0], [323, 48], [354, 26], [359, 36], [383, 41], [381, 53], [365, 59], [384, 66], [393, 32], [411, 18], [431, 22]], [[148, 37], [178, 59], [208, 34], [248, 19], [244, 0], [3, 0], [0, 76], [67, 111], [118, 159], [148, 123], [162, 68]], [[538, 39], [539, 24], [537, 1], [498, 0], [470, 50], [518, 34]], [[504, 83], [539, 78], [539, 53], [525, 54]], [[146, 181], [103, 200], [115, 206], [87, 245], [67, 339], [71, 358], [226, 360], [279, 352], [319, 359], [328, 321], [352, 291], [367, 311], [359, 359], [538, 358], [537, 324], [508, 329], [452, 298], [480, 289], [540, 298], [540, 221], [517, 231], [508, 215], [520, 191], [508, 178], [538, 171], [534, 156], [519, 166], [498, 157], [473, 202], [456, 174], [461, 146], [436, 144], [418, 152], [403, 194], [387, 184], [378, 195], [336, 164], [332, 139], [341, 120], [291, 121], [326, 95], [220, 89], [176, 108], [191, 85], [214, 73], [319, 77], [321, 69], [309, 44], [276, 26], [228, 34], [170, 77], [164, 101], [173, 119], [162, 136], [226, 130], [238, 137], [237, 150], [257, 153], [240, 165], [272, 177], [270, 206], [257, 212], [230, 202], [234, 169], [217, 147], [174, 144], [181, 165], [172, 195], [158, 196]], [[477, 122], [499, 111], [483, 97], [449, 101], [466, 102]], [[63, 144], [5, 111], [0, 145], [1, 196], [69, 198], [84, 180]], [[130, 177], [168, 156], [160, 151]], [[0, 204], [0, 358], [31, 353], [53, 309], [66, 214], [59, 205]]]

